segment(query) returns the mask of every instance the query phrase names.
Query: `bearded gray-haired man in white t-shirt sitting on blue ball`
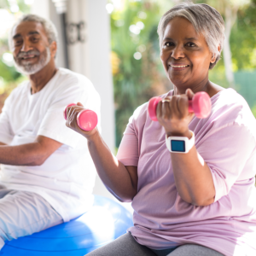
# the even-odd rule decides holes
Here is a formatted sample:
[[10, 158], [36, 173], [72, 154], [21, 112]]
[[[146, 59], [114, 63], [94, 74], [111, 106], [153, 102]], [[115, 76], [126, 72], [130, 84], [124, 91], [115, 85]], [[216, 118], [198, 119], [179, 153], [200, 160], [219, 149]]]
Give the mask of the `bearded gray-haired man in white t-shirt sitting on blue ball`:
[[24, 16], [9, 45], [15, 66], [29, 80], [12, 91], [0, 114], [0, 248], [91, 206], [95, 167], [84, 138], [65, 125], [63, 110], [71, 102], [98, 115], [100, 108], [90, 80], [55, 66], [51, 22]]

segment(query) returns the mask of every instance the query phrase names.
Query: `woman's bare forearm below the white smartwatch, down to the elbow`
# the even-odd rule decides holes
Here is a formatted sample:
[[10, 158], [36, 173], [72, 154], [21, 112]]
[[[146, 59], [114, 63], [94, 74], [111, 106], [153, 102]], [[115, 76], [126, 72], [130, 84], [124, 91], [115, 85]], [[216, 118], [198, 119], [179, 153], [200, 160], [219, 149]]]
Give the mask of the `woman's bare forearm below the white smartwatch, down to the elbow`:
[[171, 153], [172, 169], [178, 194], [195, 206], [212, 204], [215, 188], [207, 163], [195, 146], [187, 154]]

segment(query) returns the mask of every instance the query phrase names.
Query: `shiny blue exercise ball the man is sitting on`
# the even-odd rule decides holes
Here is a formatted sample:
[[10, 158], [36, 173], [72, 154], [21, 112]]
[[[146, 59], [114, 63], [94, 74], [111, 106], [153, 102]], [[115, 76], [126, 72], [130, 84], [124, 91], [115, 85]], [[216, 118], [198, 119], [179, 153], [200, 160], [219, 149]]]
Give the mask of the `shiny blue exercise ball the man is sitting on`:
[[83, 256], [125, 234], [133, 225], [131, 213], [119, 203], [95, 195], [90, 211], [70, 222], [6, 241], [5, 256]]

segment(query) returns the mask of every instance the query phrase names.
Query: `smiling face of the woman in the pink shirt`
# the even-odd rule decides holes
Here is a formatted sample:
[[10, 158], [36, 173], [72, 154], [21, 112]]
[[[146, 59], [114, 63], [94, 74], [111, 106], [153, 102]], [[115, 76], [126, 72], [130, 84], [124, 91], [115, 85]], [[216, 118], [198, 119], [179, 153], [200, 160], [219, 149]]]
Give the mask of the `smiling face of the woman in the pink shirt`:
[[175, 17], [166, 26], [160, 58], [168, 79], [180, 91], [200, 90], [197, 87], [208, 81], [210, 62], [215, 61], [204, 36], [182, 17]]

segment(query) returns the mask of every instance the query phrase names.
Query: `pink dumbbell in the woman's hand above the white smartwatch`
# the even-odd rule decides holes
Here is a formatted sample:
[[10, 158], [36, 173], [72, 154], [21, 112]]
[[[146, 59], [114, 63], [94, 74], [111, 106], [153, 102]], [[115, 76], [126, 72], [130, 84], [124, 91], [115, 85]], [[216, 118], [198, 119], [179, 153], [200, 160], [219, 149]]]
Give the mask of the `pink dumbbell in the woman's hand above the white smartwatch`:
[[[163, 99], [160, 97], [153, 97], [148, 102], [148, 114], [153, 121], [157, 121], [156, 108], [158, 102]], [[204, 91], [195, 93], [192, 100], [189, 100], [189, 113], [195, 113], [199, 119], [205, 119], [211, 113], [212, 102], [210, 96]]]

